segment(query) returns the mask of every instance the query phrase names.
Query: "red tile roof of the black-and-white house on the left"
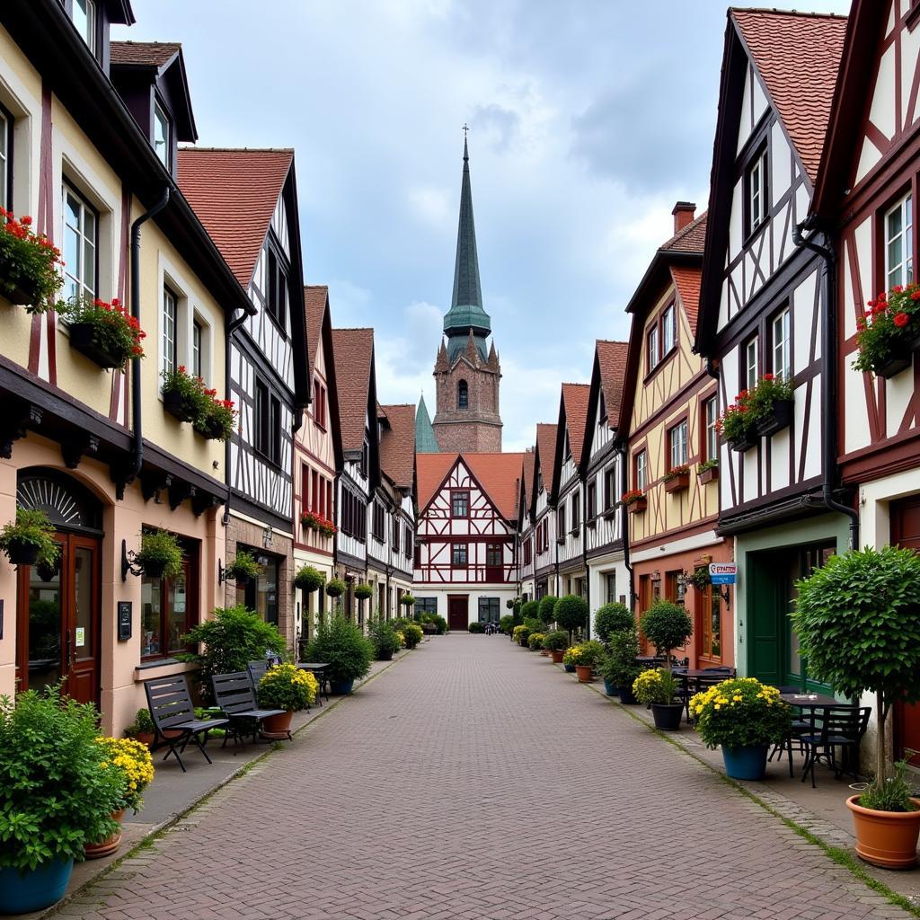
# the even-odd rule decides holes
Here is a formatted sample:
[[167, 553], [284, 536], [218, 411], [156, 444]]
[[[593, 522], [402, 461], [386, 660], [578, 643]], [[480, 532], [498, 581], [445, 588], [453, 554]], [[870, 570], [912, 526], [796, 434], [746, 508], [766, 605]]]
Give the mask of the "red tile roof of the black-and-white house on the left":
[[178, 187], [248, 290], [293, 150], [180, 147]]

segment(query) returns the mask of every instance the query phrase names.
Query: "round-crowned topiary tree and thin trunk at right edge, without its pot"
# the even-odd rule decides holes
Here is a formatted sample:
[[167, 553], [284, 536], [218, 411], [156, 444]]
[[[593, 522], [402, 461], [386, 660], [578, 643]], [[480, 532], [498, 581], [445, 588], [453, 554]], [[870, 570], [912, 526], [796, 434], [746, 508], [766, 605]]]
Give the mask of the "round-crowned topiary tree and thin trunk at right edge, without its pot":
[[792, 626], [809, 672], [846, 696], [876, 695], [875, 782], [883, 784], [891, 704], [920, 700], [920, 557], [851, 550], [796, 582]]

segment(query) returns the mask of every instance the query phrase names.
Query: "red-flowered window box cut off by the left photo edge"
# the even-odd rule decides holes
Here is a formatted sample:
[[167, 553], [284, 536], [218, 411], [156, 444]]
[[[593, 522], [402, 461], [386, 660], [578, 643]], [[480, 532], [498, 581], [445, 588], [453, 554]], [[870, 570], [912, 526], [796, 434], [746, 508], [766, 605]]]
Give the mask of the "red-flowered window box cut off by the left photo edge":
[[32, 233], [31, 225], [28, 215], [17, 220], [0, 208], [0, 295], [29, 313], [44, 313], [63, 287], [63, 262], [61, 250], [43, 233]]

